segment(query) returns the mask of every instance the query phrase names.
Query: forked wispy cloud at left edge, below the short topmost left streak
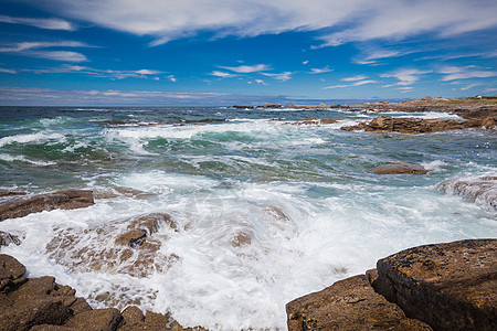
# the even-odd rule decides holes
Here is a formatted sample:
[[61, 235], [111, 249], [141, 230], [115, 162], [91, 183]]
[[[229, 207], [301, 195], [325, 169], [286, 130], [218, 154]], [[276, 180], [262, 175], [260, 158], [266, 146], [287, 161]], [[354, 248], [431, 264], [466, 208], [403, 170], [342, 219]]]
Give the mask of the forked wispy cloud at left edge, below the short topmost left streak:
[[85, 55], [73, 51], [51, 51], [46, 49], [60, 47], [93, 47], [88, 44], [77, 41], [57, 41], [57, 42], [19, 42], [0, 47], [1, 53], [14, 53], [24, 56], [42, 57], [62, 62], [85, 62], [88, 61]]

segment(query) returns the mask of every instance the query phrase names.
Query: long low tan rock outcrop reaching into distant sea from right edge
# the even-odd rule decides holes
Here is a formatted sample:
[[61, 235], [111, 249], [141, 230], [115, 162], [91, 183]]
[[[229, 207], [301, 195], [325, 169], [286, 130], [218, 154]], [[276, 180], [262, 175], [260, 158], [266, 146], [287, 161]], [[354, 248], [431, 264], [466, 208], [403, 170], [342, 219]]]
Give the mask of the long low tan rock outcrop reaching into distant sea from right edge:
[[360, 122], [356, 126], [342, 127], [342, 130], [364, 130], [379, 132], [401, 132], [401, 134], [429, 134], [447, 130], [461, 130], [469, 128], [494, 128], [493, 119], [424, 119], [424, 118], [395, 118], [391, 116], [378, 116], [368, 122]]

